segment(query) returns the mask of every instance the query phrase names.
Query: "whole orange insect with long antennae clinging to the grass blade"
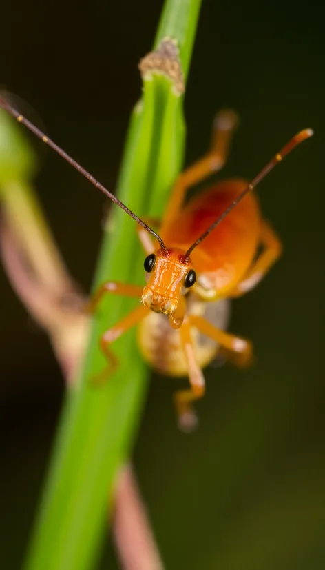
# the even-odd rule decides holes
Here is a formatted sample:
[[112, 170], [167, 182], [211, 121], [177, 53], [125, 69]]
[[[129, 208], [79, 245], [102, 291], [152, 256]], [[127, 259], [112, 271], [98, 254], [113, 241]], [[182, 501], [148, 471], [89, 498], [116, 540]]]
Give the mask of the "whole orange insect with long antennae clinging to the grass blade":
[[[262, 218], [252, 190], [297, 144], [313, 135], [299, 132], [250, 184], [241, 179], [219, 182], [184, 205], [191, 186], [224, 166], [237, 123], [234, 112], [216, 117], [211, 150], [180, 174], [171, 192], [165, 216], [156, 233], [125, 204], [102, 186], [74, 159], [0, 98], [0, 106], [56, 150], [94, 186], [138, 222], [138, 235], [147, 257], [145, 287], [106, 282], [92, 299], [96, 308], [103, 295], [125, 295], [141, 304], [101, 337], [101, 347], [111, 366], [118, 364], [110, 346], [135, 325], [143, 357], [162, 373], [189, 377], [187, 390], [175, 393], [182, 429], [192, 429], [196, 415], [192, 403], [205, 393], [204, 368], [223, 348], [239, 365], [249, 364], [252, 345], [224, 331], [229, 299], [250, 291], [281, 253], [280, 240]], [[158, 242], [152, 242], [151, 234]], [[256, 259], [258, 250], [263, 250]]]

